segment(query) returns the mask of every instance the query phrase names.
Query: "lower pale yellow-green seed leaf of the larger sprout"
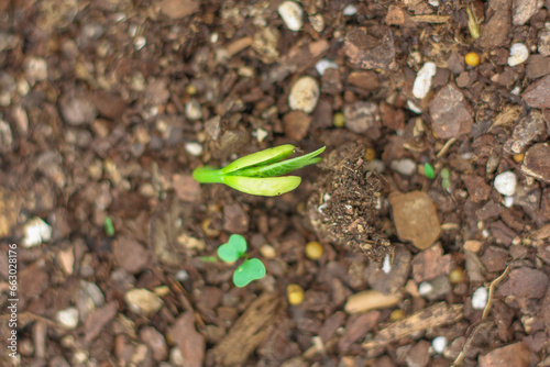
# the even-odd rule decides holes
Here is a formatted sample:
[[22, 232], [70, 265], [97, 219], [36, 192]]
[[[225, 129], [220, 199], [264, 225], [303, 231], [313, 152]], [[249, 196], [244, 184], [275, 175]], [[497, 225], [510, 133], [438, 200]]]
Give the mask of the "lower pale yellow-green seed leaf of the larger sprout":
[[301, 178], [298, 176], [267, 178], [226, 176], [223, 181], [227, 186], [245, 193], [276, 197], [296, 189], [300, 185]]

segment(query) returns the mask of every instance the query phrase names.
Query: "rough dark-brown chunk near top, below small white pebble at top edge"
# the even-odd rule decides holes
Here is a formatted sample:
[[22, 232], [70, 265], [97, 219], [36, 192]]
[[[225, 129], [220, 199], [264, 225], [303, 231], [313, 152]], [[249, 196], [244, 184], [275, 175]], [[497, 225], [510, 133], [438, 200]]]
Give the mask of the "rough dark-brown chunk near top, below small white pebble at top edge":
[[394, 34], [388, 27], [353, 27], [345, 35], [344, 52], [362, 69], [388, 69], [394, 63]]

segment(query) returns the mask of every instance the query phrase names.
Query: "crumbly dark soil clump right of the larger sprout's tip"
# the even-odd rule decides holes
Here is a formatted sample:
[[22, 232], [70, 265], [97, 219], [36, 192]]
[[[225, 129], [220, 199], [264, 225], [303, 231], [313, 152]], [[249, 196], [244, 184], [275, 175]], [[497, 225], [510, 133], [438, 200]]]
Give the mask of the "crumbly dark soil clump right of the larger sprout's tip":
[[380, 262], [393, 251], [378, 219], [385, 182], [366, 170], [365, 148], [352, 144], [329, 155], [321, 165], [328, 173], [309, 198], [308, 215], [319, 238]]

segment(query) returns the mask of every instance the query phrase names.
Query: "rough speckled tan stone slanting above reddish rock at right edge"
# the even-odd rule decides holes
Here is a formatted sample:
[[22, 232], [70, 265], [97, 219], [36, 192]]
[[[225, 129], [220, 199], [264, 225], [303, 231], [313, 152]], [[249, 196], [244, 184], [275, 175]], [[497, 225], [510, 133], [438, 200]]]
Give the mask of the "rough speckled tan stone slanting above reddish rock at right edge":
[[531, 110], [514, 127], [512, 137], [504, 144], [504, 151], [509, 154], [524, 153], [531, 142], [537, 141], [540, 136], [546, 136], [546, 133], [547, 126], [542, 113], [538, 110]]

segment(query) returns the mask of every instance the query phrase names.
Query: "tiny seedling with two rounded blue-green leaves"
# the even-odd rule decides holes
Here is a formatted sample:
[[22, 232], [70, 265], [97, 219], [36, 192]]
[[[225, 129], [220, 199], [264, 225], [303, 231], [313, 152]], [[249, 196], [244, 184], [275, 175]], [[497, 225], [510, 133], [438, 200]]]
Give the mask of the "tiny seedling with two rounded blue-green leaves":
[[255, 279], [261, 279], [265, 276], [265, 266], [257, 258], [248, 258], [246, 240], [240, 234], [229, 236], [227, 244], [218, 247], [218, 256], [222, 262], [234, 263], [241, 257], [244, 262], [233, 273], [233, 285], [237, 287], [245, 287], [249, 282]]

